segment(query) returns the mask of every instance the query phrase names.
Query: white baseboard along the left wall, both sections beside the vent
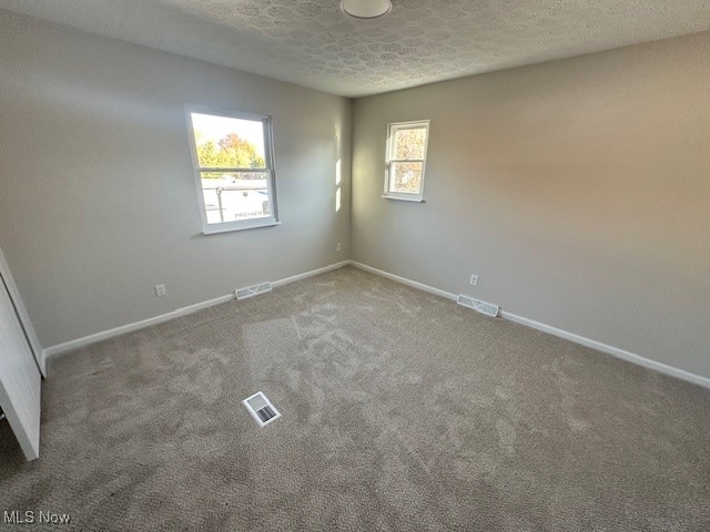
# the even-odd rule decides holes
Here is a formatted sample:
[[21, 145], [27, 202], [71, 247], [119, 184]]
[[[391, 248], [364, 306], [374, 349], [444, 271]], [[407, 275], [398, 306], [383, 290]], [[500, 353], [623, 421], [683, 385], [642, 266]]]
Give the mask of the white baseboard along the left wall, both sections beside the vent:
[[[294, 283], [296, 280], [305, 279], [307, 277], [313, 277], [315, 275], [324, 274], [326, 272], [332, 272], [334, 269], [342, 268], [343, 266], [347, 266], [351, 264], [349, 260], [343, 260], [341, 263], [331, 264], [328, 266], [324, 266], [322, 268], [312, 269], [311, 272], [305, 272], [303, 274], [294, 275], [291, 277], [286, 277], [284, 279], [274, 280], [272, 283], [273, 287], [287, 285], [288, 283]], [[79, 349], [81, 347], [90, 346], [91, 344], [95, 344], [101, 340], [106, 340], [109, 338], [113, 338], [115, 336], [124, 335], [126, 332], [133, 332], [134, 330], [144, 329], [150, 327], [151, 325], [162, 324], [163, 321], [169, 321], [171, 319], [179, 318], [181, 316], [186, 316], [192, 313], [196, 313], [197, 310], [202, 310], [203, 308], [213, 307], [215, 305], [220, 305], [222, 303], [230, 301], [235, 299], [234, 293], [229, 294], [226, 296], [215, 297], [214, 299], [210, 299], [207, 301], [196, 303], [194, 305], [189, 305], [186, 307], [178, 308], [166, 314], [161, 314], [160, 316], [154, 316], [152, 318], [142, 319], [141, 321], [135, 321], [132, 324], [122, 325], [120, 327], [115, 327], [109, 330], [102, 330], [100, 332], [94, 332], [93, 335], [84, 336], [81, 338], [77, 338], [74, 340], [64, 341], [62, 344], [57, 344], [55, 346], [48, 347], [43, 350], [43, 359], [47, 360], [50, 357], [54, 357], [57, 355], [61, 355], [63, 352], [72, 351], [74, 349]]]

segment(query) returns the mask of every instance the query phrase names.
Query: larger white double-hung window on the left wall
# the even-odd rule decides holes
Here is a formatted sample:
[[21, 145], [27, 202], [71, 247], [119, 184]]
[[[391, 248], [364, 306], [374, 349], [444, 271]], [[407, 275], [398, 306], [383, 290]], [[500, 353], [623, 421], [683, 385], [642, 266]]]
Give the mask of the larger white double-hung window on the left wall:
[[189, 116], [203, 233], [277, 224], [271, 119], [196, 108]]

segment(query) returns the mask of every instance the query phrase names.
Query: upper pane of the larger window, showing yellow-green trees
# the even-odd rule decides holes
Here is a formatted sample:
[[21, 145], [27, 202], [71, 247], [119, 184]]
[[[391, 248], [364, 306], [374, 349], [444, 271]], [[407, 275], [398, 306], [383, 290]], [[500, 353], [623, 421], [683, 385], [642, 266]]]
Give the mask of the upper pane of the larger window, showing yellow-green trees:
[[265, 168], [264, 123], [191, 113], [201, 168]]

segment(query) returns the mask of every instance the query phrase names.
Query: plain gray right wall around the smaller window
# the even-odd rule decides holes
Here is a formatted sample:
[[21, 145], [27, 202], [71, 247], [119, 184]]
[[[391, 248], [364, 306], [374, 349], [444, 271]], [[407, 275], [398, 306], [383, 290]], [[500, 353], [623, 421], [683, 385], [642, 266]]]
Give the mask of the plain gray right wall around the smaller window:
[[[710, 377], [709, 57], [703, 33], [356, 100], [353, 258]], [[387, 123], [417, 119], [426, 203], [384, 200]]]

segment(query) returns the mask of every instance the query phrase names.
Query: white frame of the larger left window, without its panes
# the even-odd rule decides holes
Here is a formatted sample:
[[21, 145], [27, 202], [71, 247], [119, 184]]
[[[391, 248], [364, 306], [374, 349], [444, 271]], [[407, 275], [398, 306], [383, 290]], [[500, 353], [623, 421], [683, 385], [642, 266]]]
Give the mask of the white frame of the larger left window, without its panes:
[[[192, 113], [210, 114], [213, 116], [222, 116], [225, 119], [241, 119], [262, 122], [264, 132], [264, 160], [266, 162], [265, 172], [267, 172], [267, 191], [268, 207], [271, 216], [251, 219], [236, 219], [232, 222], [222, 222], [220, 224], [207, 224], [207, 209], [204, 204], [204, 194], [202, 192], [202, 172], [250, 172], [254, 168], [207, 168], [200, 166], [197, 158], [197, 143], [195, 142], [194, 126], [192, 123]], [[276, 172], [274, 170], [274, 141], [272, 133], [271, 116], [265, 114], [244, 113], [241, 111], [207, 108], [203, 105], [186, 105], [185, 114], [187, 116], [187, 132], [190, 134], [190, 152], [192, 154], [192, 165], [194, 170], [195, 187], [197, 192], [197, 206], [200, 209], [200, 218], [202, 221], [202, 233], [211, 235], [214, 233], [226, 233], [230, 231], [254, 229], [256, 227], [271, 227], [281, 225], [278, 222], [278, 211], [276, 207]]]

